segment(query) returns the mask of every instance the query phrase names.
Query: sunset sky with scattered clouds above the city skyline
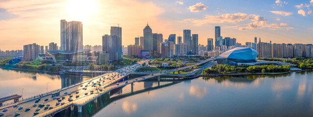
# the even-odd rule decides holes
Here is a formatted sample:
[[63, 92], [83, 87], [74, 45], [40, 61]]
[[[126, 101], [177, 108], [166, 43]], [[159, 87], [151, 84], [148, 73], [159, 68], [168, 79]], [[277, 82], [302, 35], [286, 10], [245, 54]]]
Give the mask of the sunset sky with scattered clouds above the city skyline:
[[239, 43], [313, 43], [313, 0], [0, 0], [0, 49], [50, 42], [60, 45], [60, 20], [82, 21], [83, 44], [102, 45], [110, 26], [122, 27], [122, 45], [152, 33], [183, 36], [207, 45], [214, 26]]

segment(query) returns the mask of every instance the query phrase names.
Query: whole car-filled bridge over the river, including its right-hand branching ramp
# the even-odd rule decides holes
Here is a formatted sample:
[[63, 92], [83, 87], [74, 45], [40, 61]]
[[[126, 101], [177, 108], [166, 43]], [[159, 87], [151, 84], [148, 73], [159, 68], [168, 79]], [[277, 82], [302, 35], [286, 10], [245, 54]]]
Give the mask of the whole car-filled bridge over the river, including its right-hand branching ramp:
[[[138, 63], [136, 63], [132, 66], [118, 69], [115, 72], [110, 72], [110, 73], [107, 73], [104, 75], [100, 75], [96, 78], [81, 82], [81, 83], [76, 84], [72, 87], [64, 88], [64, 89], [60, 89], [60, 90], [51, 92], [51, 93], [60, 92], [59, 97], [65, 98], [65, 99], [62, 99], [62, 101], [61, 101], [61, 102], [64, 102], [64, 104], [56, 104], [56, 102], [58, 102], [58, 100], [52, 99], [51, 95], [43, 96], [43, 97], [41, 97], [42, 99], [37, 102], [38, 104], [39, 103], [43, 103], [45, 105], [51, 104], [50, 107], [52, 107], [52, 106], [54, 107], [52, 109], [44, 109], [42, 107], [40, 108], [38, 106], [32, 106], [35, 103], [35, 100], [38, 99], [38, 98], [33, 98], [33, 99], [19, 103], [18, 106], [14, 107], [14, 108], [11, 107], [12, 105], [3, 106], [0, 108], [0, 111], [3, 110], [4, 108], [8, 109], [8, 111], [5, 112], [5, 115], [3, 117], [12, 116], [12, 114], [14, 114], [14, 113], [21, 113], [22, 116], [26, 116], [26, 117], [30, 117], [30, 116], [50, 117], [50, 116], [53, 116], [54, 114], [56, 114], [56, 113], [58, 113], [64, 109], [67, 109], [67, 108], [71, 108], [71, 110], [73, 110], [74, 106], [77, 106], [78, 112], [82, 112], [81, 107], [83, 105], [85, 105], [86, 103], [89, 103], [91, 101], [96, 102], [98, 97], [100, 97], [101, 95], [103, 95], [105, 93], [108, 93], [108, 92], [110, 93], [110, 91], [113, 89], [117, 89], [117, 88], [123, 87], [123, 86], [128, 85], [128, 84], [131, 84], [132, 85], [131, 87], [133, 87], [134, 82], [143, 81], [145, 79], [150, 79], [150, 78], [157, 78], [158, 80], [160, 80], [161, 75], [169, 74], [170, 72], [188, 69], [188, 68], [195, 67], [198, 65], [202, 65], [202, 68], [205, 68], [207, 66], [207, 63], [209, 61], [212, 61], [212, 60], [214, 60], [214, 58], [206, 59], [206, 60], [203, 60], [197, 64], [193, 64], [190, 66], [185, 66], [185, 67], [181, 67], [181, 68], [177, 68], [177, 69], [168, 70], [165, 72], [145, 75], [144, 77], [133, 78], [133, 79], [128, 79], [128, 80], [119, 82], [120, 80], [122, 80], [122, 78], [125, 78], [126, 76], [130, 75], [137, 68], [142, 67], [142, 65], [141, 65], [142, 63], [144, 63], [144, 62], [147, 63], [147, 60], [142, 60], [142, 61], [139, 61]], [[203, 66], [203, 65], [205, 65], [205, 66]], [[118, 83], [116, 83], [116, 82], [118, 82]], [[96, 85], [93, 85], [93, 83], [96, 83]], [[101, 86], [98, 86], [98, 84], [100, 84]], [[93, 93], [91, 93], [91, 92], [93, 92]], [[71, 93], [73, 96], [72, 101], [67, 100], [68, 98], [70, 98], [70, 96], [68, 95], [69, 93]], [[45, 101], [46, 98], [48, 100]], [[21, 106], [23, 106], [24, 108], [19, 110], [18, 107], [21, 107]], [[29, 108], [30, 111], [25, 111], [26, 108]], [[33, 115], [36, 108], [40, 108], [39, 111], [36, 111], [39, 114]], [[10, 113], [10, 112], [12, 112], [12, 113]]]

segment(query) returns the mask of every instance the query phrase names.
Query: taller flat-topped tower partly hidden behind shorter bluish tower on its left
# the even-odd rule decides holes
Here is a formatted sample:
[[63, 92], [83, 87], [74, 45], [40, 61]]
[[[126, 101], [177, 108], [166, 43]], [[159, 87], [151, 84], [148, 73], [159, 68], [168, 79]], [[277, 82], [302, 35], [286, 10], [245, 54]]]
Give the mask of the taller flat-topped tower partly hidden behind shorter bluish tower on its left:
[[121, 39], [121, 27], [115, 27], [115, 26], [111, 26], [111, 36], [114, 36], [116, 35], [118, 37], [118, 45], [117, 45], [117, 48], [118, 48], [118, 57], [119, 59], [121, 59], [121, 55], [123, 54], [122, 53], [122, 48], [121, 48], [121, 42], [122, 42], [122, 39]]

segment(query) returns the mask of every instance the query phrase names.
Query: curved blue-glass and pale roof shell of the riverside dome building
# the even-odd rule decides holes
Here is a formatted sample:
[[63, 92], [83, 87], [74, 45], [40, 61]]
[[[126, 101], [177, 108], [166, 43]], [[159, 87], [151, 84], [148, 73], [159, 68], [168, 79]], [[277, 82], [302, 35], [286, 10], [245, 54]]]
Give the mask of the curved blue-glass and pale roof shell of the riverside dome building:
[[259, 53], [251, 48], [237, 47], [222, 53], [217, 59], [242, 59], [251, 60], [258, 57]]

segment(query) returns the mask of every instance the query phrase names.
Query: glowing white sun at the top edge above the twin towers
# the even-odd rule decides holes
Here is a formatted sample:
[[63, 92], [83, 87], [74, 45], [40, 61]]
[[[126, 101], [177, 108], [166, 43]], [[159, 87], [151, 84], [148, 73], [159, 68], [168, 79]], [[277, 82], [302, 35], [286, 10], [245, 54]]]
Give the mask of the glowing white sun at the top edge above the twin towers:
[[66, 7], [69, 17], [77, 21], [87, 21], [98, 8], [96, 0], [69, 0]]

